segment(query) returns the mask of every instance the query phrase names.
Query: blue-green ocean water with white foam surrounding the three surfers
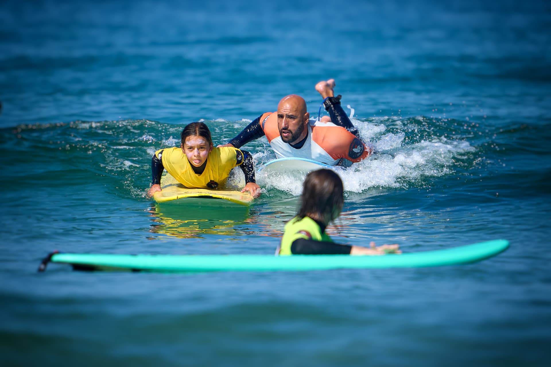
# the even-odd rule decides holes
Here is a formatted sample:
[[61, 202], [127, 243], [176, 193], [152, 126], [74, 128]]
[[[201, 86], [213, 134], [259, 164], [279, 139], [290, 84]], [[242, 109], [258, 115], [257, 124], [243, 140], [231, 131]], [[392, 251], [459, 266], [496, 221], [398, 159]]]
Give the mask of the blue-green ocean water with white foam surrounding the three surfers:
[[[543, 1], [2, 2], [2, 365], [548, 365], [550, 31]], [[226, 143], [287, 94], [317, 116], [329, 78], [379, 151], [339, 171], [336, 242], [510, 248], [420, 269], [36, 272], [53, 250], [272, 254], [300, 182], [258, 173], [249, 208], [160, 205], [150, 158], [197, 120]]]

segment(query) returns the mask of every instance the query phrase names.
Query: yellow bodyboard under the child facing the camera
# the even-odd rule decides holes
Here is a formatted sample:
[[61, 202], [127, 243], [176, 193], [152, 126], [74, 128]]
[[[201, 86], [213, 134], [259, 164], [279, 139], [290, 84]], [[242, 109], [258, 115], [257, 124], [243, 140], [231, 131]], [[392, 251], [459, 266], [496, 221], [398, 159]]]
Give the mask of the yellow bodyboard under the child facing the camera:
[[170, 174], [165, 174], [161, 178], [161, 191], [157, 191], [153, 195], [156, 202], [166, 202], [182, 198], [209, 198], [209, 199], [224, 199], [236, 204], [251, 205], [253, 197], [250, 193], [241, 193], [234, 190], [217, 190], [217, 189], [189, 189]]

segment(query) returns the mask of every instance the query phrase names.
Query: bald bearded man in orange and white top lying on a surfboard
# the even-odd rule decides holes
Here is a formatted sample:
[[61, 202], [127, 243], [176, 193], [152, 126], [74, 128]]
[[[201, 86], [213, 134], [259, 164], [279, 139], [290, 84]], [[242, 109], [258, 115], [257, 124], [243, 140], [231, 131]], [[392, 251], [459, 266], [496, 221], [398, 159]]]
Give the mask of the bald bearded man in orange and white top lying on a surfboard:
[[310, 119], [304, 98], [291, 94], [283, 97], [277, 112], [266, 112], [251, 122], [228, 144], [236, 148], [266, 135], [276, 157], [298, 157], [348, 167], [368, 157], [372, 148], [360, 139], [341, 107], [341, 96], [334, 96], [334, 79], [320, 81], [316, 90], [331, 121]]

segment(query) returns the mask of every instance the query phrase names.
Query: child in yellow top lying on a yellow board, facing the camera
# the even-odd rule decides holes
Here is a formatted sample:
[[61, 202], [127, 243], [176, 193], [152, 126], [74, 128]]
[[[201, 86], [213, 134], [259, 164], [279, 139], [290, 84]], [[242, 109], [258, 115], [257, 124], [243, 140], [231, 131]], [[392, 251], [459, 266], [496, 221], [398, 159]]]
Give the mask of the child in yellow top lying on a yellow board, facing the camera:
[[192, 122], [182, 131], [180, 147], [161, 149], [151, 161], [152, 186], [148, 191], [153, 196], [161, 191], [163, 170], [179, 183], [190, 189], [215, 189], [222, 187], [231, 169], [239, 166], [245, 174], [245, 187], [254, 198], [260, 196], [260, 186], [255, 183], [255, 167], [249, 152], [234, 147], [214, 147], [210, 130], [202, 122]]

